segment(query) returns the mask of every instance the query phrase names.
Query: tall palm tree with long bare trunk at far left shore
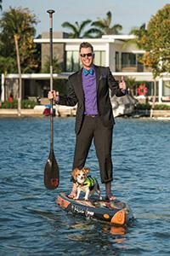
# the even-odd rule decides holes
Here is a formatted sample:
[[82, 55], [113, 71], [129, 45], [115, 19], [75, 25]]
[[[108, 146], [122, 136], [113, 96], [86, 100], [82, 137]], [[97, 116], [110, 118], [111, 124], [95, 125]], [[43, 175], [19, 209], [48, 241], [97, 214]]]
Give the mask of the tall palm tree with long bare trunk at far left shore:
[[18, 115], [21, 114], [21, 98], [22, 98], [22, 79], [20, 67], [20, 44], [26, 43], [26, 38], [35, 33], [32, 25], [37, 24], [35, 15], [31, 15], [29, 9], [13, 9], [3, 13], [0, 21], [3, 38], [8, 38], [14, 42], [16, 51], [16, 60], [19, 73], [19, 90], [18, 90]]

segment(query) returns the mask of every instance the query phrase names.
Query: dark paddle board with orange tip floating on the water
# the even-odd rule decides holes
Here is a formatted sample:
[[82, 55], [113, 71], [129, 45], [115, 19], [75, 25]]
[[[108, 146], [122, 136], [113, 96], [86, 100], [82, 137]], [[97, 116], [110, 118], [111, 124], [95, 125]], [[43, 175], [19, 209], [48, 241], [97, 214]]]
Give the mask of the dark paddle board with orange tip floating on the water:
[[130, 207], [118, 200], [99, 200], [99, 197], [95, 195], [91, 196], [89, 201], [84, 201], [82, 197], [73, 200], [66, 193], [60, 193], [56, 198], [56, 203], [67, 212], [110, 224], [122, 226], [133, 220], [133, 212]]

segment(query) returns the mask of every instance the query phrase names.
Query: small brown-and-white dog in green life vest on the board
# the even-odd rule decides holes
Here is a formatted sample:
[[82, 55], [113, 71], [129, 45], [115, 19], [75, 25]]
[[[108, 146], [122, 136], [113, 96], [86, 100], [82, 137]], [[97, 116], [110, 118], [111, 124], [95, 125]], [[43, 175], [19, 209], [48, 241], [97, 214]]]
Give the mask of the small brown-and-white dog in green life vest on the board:
[[71, 172], [71, 175], [77, 184], [77, 196], [74, 197], [74, 199], [77, 200], [81, 191], [84, 191], [85, 201], [88, 201], [89, 196], [93, 195], [95, 192], [99, 195], [99, 199], [101, 200], [102, 197], [100, 194], [99, 183], [95, 177], [88, 176], [88, 172], [90, 172], [89, 168], [83, 168], [82, 170], [76, 168]]

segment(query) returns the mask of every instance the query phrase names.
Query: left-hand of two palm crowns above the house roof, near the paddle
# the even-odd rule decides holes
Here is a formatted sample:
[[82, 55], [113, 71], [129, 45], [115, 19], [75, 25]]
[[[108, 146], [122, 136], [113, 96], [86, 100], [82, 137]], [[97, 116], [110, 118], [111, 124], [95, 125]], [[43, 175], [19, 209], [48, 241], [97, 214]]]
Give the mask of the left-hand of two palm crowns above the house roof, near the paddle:
[[76, 21], [75, 24], [65, 21], [62, 26], [71, 30], [69, 33], [69, 38], [92, 38], [93, 33], [96, 29], [90, 28], [85, 31], [85, 27], [88, 26], [92, 20], [83, 20], [80, 24]]

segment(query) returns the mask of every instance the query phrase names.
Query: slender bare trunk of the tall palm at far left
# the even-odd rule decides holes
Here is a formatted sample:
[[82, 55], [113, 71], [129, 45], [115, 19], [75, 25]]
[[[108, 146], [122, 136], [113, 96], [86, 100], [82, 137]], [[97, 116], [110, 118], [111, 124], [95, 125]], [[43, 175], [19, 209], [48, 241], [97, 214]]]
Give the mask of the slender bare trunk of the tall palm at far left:
[[19, 44], [18, 44], [18, 36], [14, 35], [14, 44], [16, 49], [16, 58], [17, 58], [17, 66], [19, 73], [19, 90], [18, 90], [18, 115], [21, 115], [21, 99], [22, 99], [22, 79], [21, 79], [21, 70], [20, 70], [20, 54], [19, 54]]

